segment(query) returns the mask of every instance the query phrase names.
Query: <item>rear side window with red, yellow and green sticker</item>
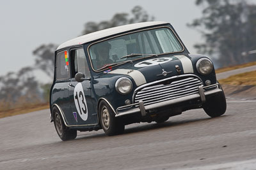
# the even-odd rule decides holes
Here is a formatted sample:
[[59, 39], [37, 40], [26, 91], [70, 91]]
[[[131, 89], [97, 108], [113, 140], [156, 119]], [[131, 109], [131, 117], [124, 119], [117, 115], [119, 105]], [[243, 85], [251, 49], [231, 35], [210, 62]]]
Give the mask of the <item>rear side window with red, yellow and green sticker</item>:
[[56, 56], [56, 79], [63, 80], [69, 78], [69, 68], [68, 68], [68, 52], [57, 53]]

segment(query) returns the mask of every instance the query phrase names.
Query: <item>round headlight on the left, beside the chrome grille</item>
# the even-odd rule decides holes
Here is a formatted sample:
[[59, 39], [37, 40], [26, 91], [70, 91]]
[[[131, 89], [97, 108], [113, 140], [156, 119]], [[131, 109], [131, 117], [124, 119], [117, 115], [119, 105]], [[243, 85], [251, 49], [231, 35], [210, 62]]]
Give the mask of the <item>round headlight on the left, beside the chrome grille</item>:
[[132, 81], [129, 78], [122, 77], [116, 80], [116, 91], [120, 94], [128, 94], [132, 90]]

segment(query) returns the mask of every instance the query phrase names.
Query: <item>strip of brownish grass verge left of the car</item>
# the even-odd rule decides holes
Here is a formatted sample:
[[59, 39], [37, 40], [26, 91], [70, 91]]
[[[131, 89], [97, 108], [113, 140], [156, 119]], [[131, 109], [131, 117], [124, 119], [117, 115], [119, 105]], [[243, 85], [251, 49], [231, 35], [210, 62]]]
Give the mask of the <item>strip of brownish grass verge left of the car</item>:
[[49, 108], [49, 103], [42, 104], [31, 104], [26, 107], [13, 108], [10, 110], [0, 110], [0, 118], [11, 117], [14, 115], [20, 115], [24, 113], [29, 113], [32, 111], [44, 110]]

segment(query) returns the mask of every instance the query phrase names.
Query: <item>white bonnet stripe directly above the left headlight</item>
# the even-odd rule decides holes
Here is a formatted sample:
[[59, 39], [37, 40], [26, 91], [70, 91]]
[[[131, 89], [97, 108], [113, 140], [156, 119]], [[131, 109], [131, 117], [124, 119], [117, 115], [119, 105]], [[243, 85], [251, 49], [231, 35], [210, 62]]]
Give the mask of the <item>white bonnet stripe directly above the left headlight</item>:
[[134, 69], [115, 69], [114, 71], [108, 72], [108, 74], [129, 75], [133, 78], [137, 86], [147, 83], [145, 76], [140, 71]]

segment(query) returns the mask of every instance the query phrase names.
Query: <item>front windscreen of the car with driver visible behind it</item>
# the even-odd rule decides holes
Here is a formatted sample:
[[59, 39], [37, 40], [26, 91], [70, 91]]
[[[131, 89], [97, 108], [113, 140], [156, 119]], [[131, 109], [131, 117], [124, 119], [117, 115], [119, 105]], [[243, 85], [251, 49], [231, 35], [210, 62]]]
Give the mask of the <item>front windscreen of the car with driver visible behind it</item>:
[[[100, 41], [89, 47], [93, 69], [137, 60], [150, 54], [181, 52], [183, 46], [168, 27], [148, 29]], [[126, 56], [126, 57], [125, 57]]]

